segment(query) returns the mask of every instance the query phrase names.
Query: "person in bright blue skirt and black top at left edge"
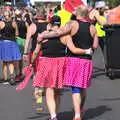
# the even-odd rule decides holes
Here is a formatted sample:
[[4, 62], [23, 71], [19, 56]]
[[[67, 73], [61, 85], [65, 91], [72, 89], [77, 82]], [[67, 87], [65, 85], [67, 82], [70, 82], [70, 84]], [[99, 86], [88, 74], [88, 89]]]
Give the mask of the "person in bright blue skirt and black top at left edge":
[[[12, 21], [10, 11], [4, 11], [4, 20], [0, 21], [0, 29], [0, 60], [3, 61], [4, 82], [8, 81], [14, 85], [14, 61], [21, 60], [21, 54], [15, 42], [15, 37], [18, 35], [17, 24]], [[8, 80], [7, 65], [10, 71], [10, 80]]]

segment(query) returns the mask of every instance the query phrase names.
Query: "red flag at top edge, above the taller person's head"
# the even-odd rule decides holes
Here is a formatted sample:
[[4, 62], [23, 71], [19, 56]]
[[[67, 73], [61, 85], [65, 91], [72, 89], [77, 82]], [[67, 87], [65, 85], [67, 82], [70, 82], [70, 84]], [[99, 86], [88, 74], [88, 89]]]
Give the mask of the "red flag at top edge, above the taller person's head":
[[66, 0], [64, 8], [70, 13], [74, 13], [75, 8], [79, 5], [85, 5], [86, 0]]

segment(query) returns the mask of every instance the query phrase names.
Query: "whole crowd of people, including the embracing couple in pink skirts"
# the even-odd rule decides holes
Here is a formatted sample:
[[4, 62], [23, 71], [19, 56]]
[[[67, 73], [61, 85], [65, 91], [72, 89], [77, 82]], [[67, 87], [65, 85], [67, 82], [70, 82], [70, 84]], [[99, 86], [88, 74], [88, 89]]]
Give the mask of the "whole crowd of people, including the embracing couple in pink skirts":
[[102, 28], [107, 23], [109, 7], [103, 1], [96, 2], [94, 8], [78, 6], [65, 25], [60, 11], [60, 5], [49, 12], [35, 7], [0, 10], [1, 82], [15, 85], [22, 81], [24, 63], [33, 69], [38, 103], [45, 92], [50, 120], [58, 120], [60, 92], [64, 87], [72, 92], [73, 120], [82, 120], [86, 89], [92, 82], [92, 55], [99, 45], [104, 49]]

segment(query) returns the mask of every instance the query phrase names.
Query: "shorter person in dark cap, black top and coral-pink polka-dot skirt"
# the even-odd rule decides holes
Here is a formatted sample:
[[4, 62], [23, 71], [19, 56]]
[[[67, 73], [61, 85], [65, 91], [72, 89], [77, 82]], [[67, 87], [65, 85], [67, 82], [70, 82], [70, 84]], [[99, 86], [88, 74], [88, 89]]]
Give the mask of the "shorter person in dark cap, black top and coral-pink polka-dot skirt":
[[[60, 18], [53, 16], [51, 18], [51, 25], [51, 30], [58, 29], [60, 26]], [[66, 43], [67, 40], [69, 43]], [[61, 38], [49, 38], [48, 40], [38, 42], [32, 56], [33, 62], [39, 50], [42, 49], [43, 56], [39, 57], [37, 72], [33, 79], [33, 86], [46, 89], [46, 101], [51, 115], [50, 120], [57, 120], [56, 112], [60, 101], [59, 90], [63, 88], [65, 72], [66, 44], [69, 47], [72, 46], [70, 49], [78, 54], [86, 53], [86, 50], [74, 47], [70, 36], [64, 36]]]

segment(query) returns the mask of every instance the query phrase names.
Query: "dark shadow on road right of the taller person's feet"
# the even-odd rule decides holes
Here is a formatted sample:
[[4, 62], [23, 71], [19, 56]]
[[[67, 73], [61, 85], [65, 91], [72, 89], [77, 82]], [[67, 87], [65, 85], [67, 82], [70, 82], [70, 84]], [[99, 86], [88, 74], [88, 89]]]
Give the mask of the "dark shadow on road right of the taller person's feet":
[[106, 105], [97, 106], [96, 108], [89, 108], [88, 110], [85, 111], [84, 119], [85, 120], [93, 119], [98, 116], [101, 116], [102, 114], [108, 111], [112, 111], [112, 109]]

